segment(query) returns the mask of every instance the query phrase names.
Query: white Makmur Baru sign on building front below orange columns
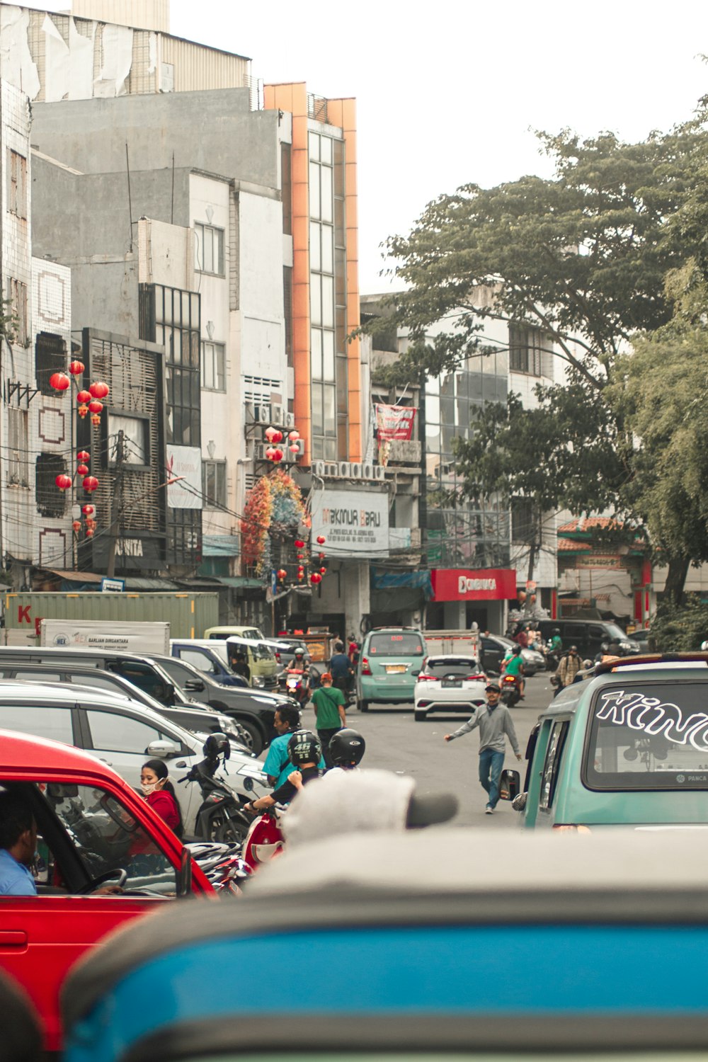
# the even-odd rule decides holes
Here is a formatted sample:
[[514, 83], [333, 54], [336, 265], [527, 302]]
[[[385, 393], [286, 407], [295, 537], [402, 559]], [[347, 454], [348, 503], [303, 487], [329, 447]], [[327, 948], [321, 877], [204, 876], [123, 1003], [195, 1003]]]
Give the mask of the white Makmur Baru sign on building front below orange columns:
[[[327, 556], [388, 555], [388, 495], [364, 491], [313, 491], [312, 543], [325, 536]], [[313, 550], [317, 547], [313, 545]]]

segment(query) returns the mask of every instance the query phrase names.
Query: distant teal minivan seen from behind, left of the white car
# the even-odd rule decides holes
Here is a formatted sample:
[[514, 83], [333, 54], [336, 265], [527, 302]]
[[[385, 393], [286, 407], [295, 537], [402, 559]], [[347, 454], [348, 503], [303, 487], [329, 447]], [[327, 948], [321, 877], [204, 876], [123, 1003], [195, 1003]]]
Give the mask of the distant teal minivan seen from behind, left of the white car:
[[357, 706], [372, 701], [411, 704], [426, 656], [426, 641], [414, 627], [376, 627], [364, 638], [357, 666]]

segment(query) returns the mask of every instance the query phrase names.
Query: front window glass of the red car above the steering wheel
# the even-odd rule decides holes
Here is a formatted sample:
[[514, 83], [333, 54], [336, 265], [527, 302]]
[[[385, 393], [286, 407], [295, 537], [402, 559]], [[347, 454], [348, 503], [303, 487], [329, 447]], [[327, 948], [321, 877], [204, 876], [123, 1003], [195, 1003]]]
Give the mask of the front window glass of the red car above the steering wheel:
[[91, 878], [127, 871], [124, 889], [176, 894], [175, 869], [143, 826], [104, 789], [92, 786], [40, 787], [76, 847]]

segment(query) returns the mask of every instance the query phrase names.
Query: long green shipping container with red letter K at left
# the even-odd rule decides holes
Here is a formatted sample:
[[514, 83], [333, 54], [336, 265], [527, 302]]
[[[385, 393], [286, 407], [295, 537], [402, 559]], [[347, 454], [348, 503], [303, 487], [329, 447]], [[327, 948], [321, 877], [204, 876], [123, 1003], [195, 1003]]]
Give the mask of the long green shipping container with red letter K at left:
[[[111, 620], [170, 624], [172, 638], [201, 638], [208, 627], [219, 623], [218, 594], [5, 594], [5, 640], [8, 645], [38, 632], [40, 619]], [[17, 632], [17, 633], [15, 633]]]

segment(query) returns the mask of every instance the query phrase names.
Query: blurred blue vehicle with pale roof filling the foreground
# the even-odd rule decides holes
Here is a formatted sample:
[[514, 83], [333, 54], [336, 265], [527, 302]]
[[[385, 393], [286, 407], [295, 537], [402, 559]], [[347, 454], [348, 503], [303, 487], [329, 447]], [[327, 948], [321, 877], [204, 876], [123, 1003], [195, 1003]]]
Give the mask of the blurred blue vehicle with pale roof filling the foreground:
[[[128, 927], [69, 979], [65, 1062], [705, 1054], [708, 859], [695, 836], [426, 834], [306, 844], [240, 903]], [[289, 955], [280, 1021], [254, 991], [215, 1004], [217, 972]]]

